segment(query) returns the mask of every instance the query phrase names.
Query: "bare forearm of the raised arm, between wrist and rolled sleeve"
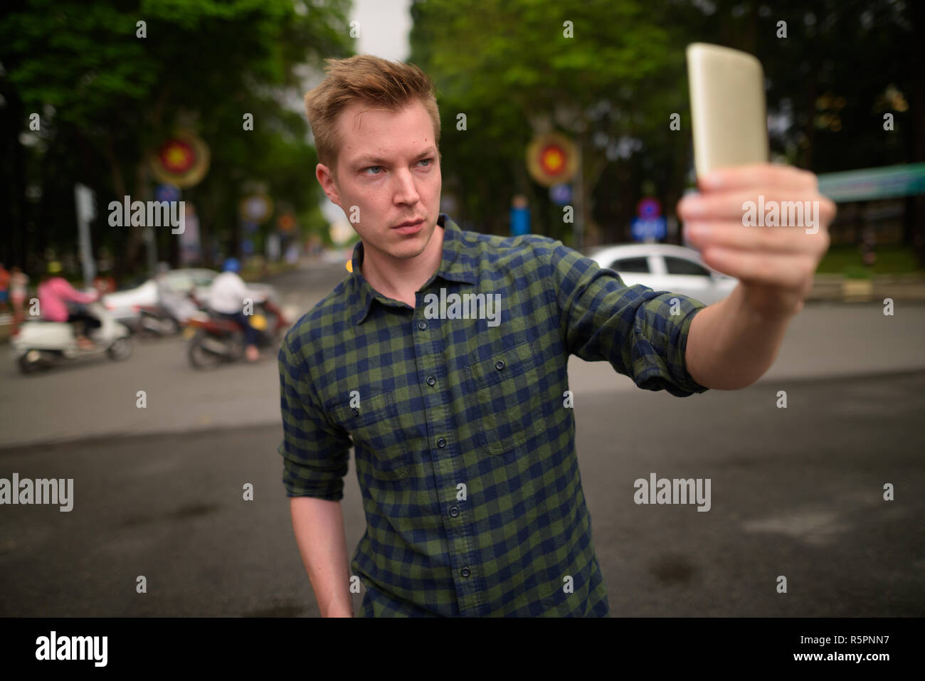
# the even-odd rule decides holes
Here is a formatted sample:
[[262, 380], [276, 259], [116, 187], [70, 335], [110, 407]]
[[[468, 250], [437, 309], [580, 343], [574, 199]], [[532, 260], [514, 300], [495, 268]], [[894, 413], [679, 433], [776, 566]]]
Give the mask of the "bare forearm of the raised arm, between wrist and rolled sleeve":
[[746, 303], [740, 284], [691, 321], [685, 350], [688, 373], [716, 390], [750, 386], [773, 364], [792, 318], [759, 315]]

